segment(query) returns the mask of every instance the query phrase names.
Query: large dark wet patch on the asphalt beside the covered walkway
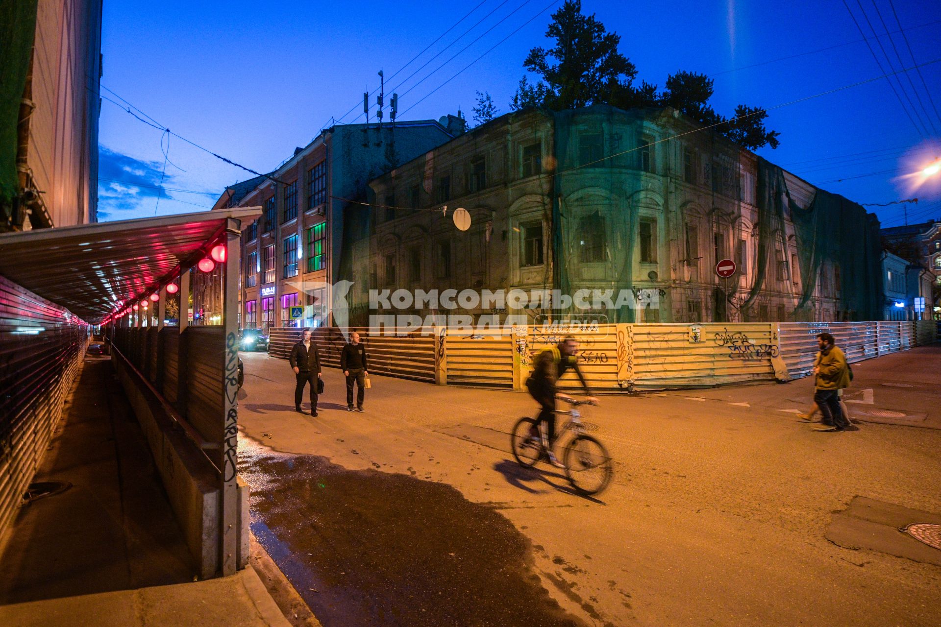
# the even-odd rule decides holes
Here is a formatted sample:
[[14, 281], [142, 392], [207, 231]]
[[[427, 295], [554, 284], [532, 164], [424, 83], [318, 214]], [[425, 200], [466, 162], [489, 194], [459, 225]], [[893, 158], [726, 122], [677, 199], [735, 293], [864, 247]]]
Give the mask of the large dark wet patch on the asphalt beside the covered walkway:
[[252, 531], [324, 627], [584, 625], [529, 541], [451, 486], [239, 440]]

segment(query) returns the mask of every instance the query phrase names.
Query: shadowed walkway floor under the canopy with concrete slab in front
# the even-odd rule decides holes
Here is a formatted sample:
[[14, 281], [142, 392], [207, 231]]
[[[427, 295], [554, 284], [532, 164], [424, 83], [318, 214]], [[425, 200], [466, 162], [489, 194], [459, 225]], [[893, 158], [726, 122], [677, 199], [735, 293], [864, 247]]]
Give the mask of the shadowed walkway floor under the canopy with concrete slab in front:
[[2, 625], [287, 625], [250, 567], [195, 582], [183, 533], [109, 358], [88, 355], [0, 546]]

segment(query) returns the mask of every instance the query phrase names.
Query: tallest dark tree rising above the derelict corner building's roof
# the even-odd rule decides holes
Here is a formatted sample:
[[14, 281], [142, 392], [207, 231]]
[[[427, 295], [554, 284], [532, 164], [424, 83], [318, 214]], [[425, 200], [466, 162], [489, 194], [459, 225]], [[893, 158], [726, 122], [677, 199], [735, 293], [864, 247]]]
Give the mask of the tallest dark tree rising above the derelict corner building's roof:
[[523, 62], [541, 79], [529, 90], [520, 81], [514, 105], [537, 102], [559, 111], [607, 102], [612, 91], [629, 85], [637, 74], [630, 60], [617, 52], [620, 36], [607, 32], [594, 14], [583, 15], [582, 0], [566, 0], [552, 13], [546, 37], [555, 39], [555, 45], [550, 50], [534, 48]]

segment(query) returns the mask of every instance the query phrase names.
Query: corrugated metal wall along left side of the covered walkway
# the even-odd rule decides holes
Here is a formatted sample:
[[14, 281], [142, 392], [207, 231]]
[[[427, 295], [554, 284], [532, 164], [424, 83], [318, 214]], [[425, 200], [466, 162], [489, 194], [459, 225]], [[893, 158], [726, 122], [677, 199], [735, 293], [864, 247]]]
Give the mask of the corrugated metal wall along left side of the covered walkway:
[[0, 276], [0, 531], [40, 467], [88, 338], [84, 322]]

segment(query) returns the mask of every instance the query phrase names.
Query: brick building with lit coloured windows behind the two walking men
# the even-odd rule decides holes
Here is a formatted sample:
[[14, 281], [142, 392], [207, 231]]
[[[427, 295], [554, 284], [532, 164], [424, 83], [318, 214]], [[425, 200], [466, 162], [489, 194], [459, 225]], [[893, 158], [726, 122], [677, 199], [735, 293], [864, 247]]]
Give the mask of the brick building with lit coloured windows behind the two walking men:
[[242, 231], [242, 327], [267, 333], [330, 323], [327, 304], [345, 297], [346, 215], [365, 202], [367, 182], [463, 130], [463, 119], [453, 116], [334, 126], [273, 172], [227, 188], [214, 209], [263, 208]]

